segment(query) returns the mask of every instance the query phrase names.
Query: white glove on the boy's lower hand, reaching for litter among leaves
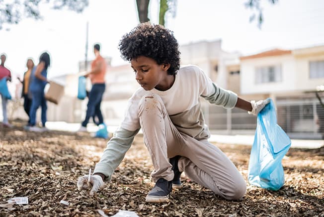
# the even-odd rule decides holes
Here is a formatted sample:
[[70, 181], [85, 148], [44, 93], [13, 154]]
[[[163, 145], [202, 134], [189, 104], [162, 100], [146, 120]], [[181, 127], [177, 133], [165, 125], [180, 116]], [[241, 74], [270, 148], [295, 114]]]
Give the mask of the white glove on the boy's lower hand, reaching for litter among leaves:
[[93, 175], [90, 176], [90, 182], [88, 182], [89, 175], [81, 176], [78, 179], [78, 189], [89, 189], [91, 186], [90, 195], [93, 196], [99, 188], [103, 187], [103, 181], [101, 176]]

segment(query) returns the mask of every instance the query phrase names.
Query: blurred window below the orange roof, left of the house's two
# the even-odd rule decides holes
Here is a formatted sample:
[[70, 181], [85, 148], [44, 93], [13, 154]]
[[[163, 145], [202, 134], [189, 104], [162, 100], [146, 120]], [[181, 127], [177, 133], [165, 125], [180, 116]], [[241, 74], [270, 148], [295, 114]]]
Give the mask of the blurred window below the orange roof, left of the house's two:
[[281, 67], [262, 66], [255, 69], [255, 83], [281, 82]]

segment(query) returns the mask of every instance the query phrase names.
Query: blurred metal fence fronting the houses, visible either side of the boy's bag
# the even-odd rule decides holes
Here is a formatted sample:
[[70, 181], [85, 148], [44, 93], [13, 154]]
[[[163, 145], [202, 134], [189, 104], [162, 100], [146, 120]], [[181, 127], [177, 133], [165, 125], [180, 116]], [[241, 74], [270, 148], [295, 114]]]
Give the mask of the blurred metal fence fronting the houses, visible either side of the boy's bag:
[[[277, 122], [290, 138], [322, 139], [324, 108], [317, 98], [277, 99], [276, 108]], [[202, 109], [212, 133], [254, 134], [256, 117], [242, 109], [225, 109], [203, 102]]]

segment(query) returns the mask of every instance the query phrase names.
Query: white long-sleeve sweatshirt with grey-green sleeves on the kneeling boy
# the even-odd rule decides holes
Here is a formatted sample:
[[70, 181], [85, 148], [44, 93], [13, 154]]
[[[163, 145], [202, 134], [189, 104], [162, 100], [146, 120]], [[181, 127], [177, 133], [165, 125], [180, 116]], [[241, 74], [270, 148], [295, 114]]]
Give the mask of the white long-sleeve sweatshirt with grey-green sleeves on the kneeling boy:
[[112, 173], [123, 160], [134, 136], [138, 133], [141, 127], [138, 116], [139, 102], [150, 92], [161, 97], [175, 127], [198, 140], [210, 136], [199, 98], [202, 97], [211, 104], [224, 108], [234, 108], [238, 100], [235, 93], [217, 87], [199, 67], [194, 65], [181, 67], [175, 75], [172, 87], [166, 91], [138, 89], [129, 99], [124, 120], [107, 143], [100, 161], [95, 166], [94, 173], [104, 174], [105, 180], [111, 179]]

